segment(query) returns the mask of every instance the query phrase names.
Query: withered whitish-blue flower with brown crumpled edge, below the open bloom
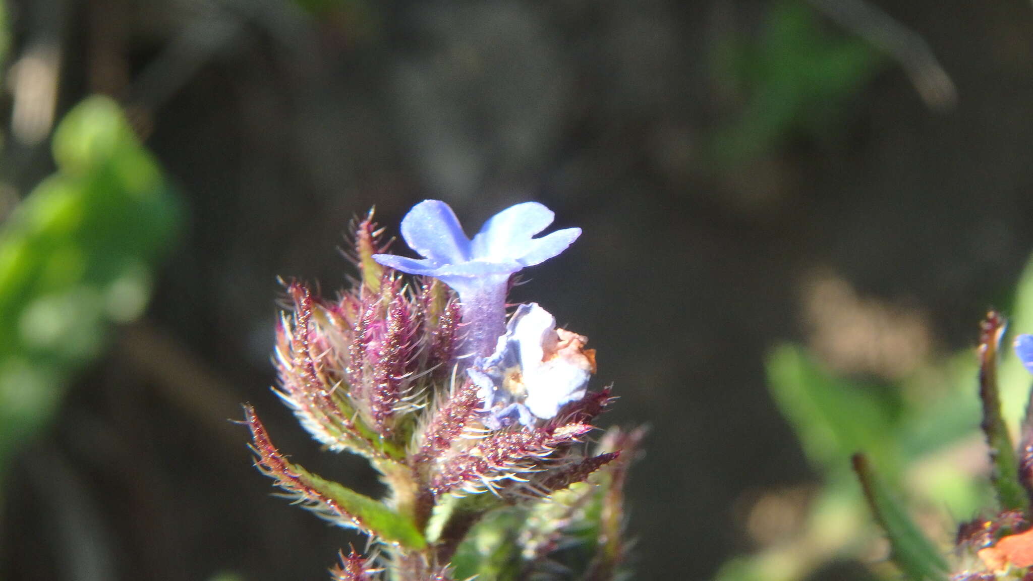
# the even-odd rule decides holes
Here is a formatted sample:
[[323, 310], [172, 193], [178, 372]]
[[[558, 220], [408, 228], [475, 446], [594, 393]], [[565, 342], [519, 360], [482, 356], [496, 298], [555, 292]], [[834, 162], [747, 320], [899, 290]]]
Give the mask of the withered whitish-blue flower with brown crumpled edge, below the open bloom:
[[518, 307], [495, 353], [467, 369], [483, 402], [484, 425], [532, 426], [585, 397], [595, 371], [595, 351], [584, 349], [587, 341], [557, 329], [553, 315], [536, 303]]

